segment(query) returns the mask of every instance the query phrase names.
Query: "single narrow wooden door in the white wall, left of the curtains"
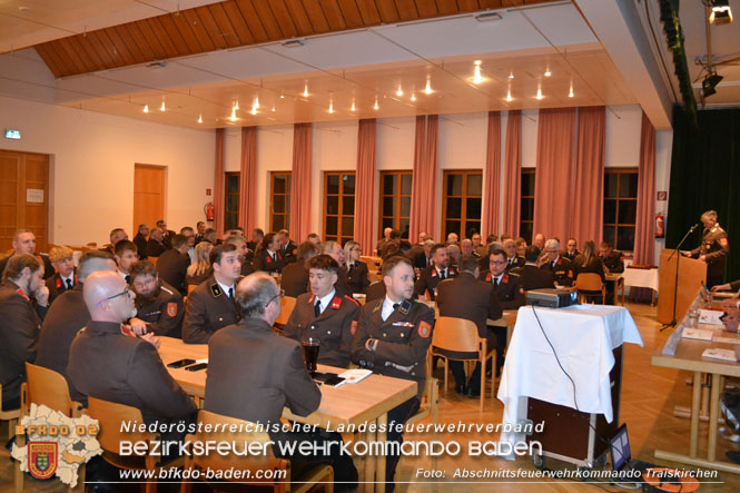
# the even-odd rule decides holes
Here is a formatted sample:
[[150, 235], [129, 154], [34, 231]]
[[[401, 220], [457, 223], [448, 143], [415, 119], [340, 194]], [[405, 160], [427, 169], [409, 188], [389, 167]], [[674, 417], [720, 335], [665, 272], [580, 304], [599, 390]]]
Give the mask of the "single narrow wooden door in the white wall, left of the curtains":
[[159, 219], [165, 219], [165, 184], [164, 166], [135, 165], [134, 170], [134, 227], [131, 238], [136, 236], [140, 224], [150, 228]]

